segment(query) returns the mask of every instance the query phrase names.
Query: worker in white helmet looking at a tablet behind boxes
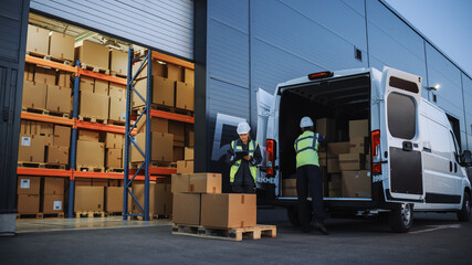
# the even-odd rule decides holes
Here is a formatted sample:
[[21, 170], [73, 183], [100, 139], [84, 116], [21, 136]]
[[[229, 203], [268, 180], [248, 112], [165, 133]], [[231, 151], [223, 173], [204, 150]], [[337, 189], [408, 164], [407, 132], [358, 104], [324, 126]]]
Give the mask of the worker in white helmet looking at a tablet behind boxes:
[[254, 193], [256, 166], [262, 161], [261, 150], [255, 140], [249, 136], [251, 127], [242, 121], [238, 125], [239, 139], [231, 141], [227, 163], [230, 168], [231, 189], [234, 193]]

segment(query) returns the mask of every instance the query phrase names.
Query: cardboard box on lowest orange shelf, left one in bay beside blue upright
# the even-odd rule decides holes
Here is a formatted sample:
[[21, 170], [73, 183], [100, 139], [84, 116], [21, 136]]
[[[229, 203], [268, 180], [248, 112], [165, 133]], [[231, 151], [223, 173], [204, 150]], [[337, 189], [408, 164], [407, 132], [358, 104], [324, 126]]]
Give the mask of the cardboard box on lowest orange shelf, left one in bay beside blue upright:
[[103, 167], [105, 165], [105, 144], [77, 140], [77, 168], [80, 166]]

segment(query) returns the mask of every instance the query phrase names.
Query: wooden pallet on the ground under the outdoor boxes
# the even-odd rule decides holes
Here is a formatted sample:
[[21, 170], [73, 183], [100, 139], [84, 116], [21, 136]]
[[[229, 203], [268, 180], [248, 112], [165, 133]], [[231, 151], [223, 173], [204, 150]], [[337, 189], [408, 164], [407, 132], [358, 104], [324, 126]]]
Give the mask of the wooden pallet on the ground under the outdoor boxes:
[[276, 237], [277, 227], [275, 225], [258, 224], [253, 227], [214, 229], [202, 225], [174, 224], [172, 234], [230, 241], [260, 240], [261, 236]]

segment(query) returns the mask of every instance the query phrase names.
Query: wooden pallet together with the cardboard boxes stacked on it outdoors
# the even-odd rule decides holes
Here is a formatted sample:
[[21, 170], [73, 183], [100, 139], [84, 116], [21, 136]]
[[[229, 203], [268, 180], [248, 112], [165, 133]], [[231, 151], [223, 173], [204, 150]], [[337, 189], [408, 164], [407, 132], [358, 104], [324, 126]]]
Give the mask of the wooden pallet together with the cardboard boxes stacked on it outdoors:
[[255, 194], [221, 193], [220, 173], [172, 174], [172, 234], [241, 241], [276, 236], [256, 224]]

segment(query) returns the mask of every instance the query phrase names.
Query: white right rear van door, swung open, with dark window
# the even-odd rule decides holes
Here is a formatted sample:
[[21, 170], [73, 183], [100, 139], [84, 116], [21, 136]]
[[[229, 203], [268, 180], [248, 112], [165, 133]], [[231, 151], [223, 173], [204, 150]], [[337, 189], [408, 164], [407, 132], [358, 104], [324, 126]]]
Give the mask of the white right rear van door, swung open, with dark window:
[[418, 126], [421, 77], [395, 68], [382, 72], [384, 107], [380, 107], [380, 160], [386, 201], [421, 202], [424, 199], [421, 141]]

